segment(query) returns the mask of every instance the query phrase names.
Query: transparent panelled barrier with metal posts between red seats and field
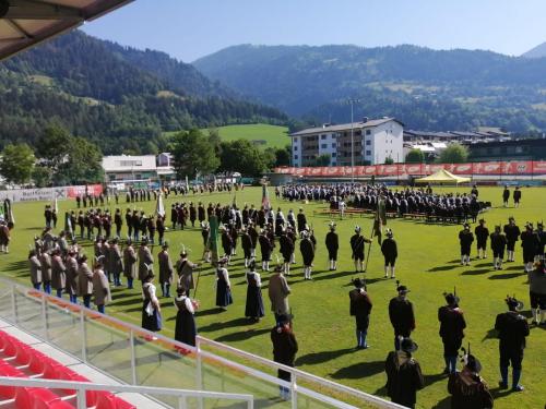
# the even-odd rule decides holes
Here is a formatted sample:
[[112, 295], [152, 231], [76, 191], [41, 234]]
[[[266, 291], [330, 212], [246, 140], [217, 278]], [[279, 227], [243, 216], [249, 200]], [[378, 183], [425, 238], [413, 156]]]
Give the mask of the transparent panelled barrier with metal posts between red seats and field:
[[[136, 303], [140, 310], [140, 302]], [[0, 317], [79, 361], [127, 385], [177, 390], [214, 390], [276, 399], [275, 408], [403, 408], [355, 388], [285, 366], [198, 336], [191, 347], [82, 305], [0, 279]], [[277, 370], [292, 374], [278, 380]], [[109, 387], [109, 386], [108, 386]], [[290, 399], [278, 398], [280, 387]], [[180, 407], [176, 396], [151, 398]], [[202, 397], [187, 397], [188, 408], [206, 409]]]

